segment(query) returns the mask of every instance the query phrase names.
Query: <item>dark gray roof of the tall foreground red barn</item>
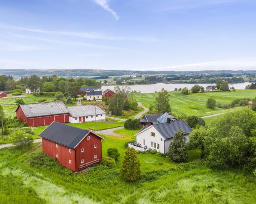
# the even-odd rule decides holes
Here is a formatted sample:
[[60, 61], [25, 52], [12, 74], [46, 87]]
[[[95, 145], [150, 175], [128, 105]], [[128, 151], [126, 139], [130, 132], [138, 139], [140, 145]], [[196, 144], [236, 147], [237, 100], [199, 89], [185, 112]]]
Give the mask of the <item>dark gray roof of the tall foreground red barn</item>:
[[[39, 136], [74, 149], [89, 132], [89, 130], [52, 122]], [[104, 138], [102, 139], [104, 140]]]

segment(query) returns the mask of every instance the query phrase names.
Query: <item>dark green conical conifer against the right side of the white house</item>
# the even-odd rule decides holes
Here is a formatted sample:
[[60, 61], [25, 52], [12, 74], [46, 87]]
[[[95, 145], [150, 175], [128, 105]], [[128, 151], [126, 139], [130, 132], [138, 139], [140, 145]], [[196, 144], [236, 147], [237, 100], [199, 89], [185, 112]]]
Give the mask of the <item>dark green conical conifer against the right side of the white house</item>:
[[168, 156], [174, 161], [183, 162], [188, 159], [188, 153], [186, 149], [186, 138], [182, 130], [178, 130], [173, 138], [173, 141], [170, 143], [168, 148]]

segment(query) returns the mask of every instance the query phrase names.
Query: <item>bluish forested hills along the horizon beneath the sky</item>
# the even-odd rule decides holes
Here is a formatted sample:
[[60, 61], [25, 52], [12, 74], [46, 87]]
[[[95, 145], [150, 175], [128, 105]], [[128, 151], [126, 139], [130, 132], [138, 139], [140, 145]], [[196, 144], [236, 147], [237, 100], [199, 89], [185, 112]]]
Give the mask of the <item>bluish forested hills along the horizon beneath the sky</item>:
[[195, 75], [195, 74], [256, 74], [256, 71], [232, 71], [232, 70], [220, 70], [220, 71], [129, 71], [129, 70], [102, 70], [102, 69], [0, 69], [0, 75], [12, 75], [14, 77], [31, 76], [37, 74], [37, 76], [63, 76], [63, 77], [91, 77], [91, 76], [121, 76], [121, 75], [133, 75], [133, 74], [183, 74], [183, 75]]

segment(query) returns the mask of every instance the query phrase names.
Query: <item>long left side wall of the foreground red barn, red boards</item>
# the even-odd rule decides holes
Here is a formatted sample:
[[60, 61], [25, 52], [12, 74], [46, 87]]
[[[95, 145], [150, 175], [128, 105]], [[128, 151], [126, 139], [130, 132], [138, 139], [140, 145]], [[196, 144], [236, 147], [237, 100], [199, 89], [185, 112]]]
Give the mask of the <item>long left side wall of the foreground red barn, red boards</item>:
[[[56, 158], [62, 166], [75, 171], [75, 150], [45, 138], [42, 138], [42, 143], [43, 153], [51, 156], [52, 158]], [[58, 147], [56, 147], [56, 144], [58, 144]], [[71, 153], [69, 153], [69, 149], [71, 149]], [[59, 155], [58, 158], [56, 157], [56, 154]], [[69, 160], [71, 160], [71, 164], [69, 163]]]

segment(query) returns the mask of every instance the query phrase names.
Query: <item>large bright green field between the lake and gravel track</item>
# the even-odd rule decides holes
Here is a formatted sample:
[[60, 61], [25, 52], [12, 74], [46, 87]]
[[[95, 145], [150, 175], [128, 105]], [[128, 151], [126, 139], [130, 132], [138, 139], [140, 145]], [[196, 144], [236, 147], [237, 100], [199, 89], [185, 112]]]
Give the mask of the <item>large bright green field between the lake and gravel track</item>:
[[[216, 104], [231, 104], [231, 102], [235, 99], [253, 99], [256, 97], [256, 90], [236, 90], [235, 92], [203, 92], [189, 95], [182, 95], [181, 91], [172, 91], [169, 92], [169, 94], [173, 114], [205, 116], [232, 110], [220, 108], [216, 108], [214, 110], [208, 109], [206, 107], [206, 101], [209, 97], [214, 97]], [[146, 107], [149, 107], [151, 104], [154, 105], [154, 100], [157, 97], [157, 93], [132, 93], [132, 95]]]

